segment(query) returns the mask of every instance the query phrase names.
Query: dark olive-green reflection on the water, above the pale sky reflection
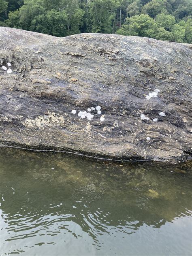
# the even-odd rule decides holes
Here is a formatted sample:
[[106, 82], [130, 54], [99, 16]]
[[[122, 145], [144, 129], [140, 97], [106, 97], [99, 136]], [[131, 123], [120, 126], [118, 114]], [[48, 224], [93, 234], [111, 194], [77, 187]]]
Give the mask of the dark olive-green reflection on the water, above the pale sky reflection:
[[114, 227], [132, 233], [143, 224], [160, 228], [190, 214], [189, 162], [116, 164], [12, 149], [1, 150], [0, 162], [1, 208], [9, 213], [9, 226], [22, 224], [25, 215], [34, 226], [49, 226], [49, 218], [39, 219], [50, 215], [60, 224], [76, 222], [96, 239]]

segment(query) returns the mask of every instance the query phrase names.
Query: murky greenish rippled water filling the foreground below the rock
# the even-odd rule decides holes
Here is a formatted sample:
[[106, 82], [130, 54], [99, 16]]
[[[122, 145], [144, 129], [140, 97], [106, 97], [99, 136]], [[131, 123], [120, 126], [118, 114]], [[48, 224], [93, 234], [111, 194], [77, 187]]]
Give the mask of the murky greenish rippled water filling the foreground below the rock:
[[0, 255], [192, 255], [190, 162], [0, 149]]

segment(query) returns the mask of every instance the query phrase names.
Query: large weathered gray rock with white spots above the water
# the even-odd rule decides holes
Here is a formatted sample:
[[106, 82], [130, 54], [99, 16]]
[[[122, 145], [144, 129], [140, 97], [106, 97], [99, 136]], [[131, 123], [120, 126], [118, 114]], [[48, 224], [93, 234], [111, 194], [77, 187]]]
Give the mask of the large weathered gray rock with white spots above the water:
[[[191, 48], [134, 36], [57, 38], [1, 27], [0, 144], [186, 160]], [[101, 114], [87, 115], [96, 106]]]

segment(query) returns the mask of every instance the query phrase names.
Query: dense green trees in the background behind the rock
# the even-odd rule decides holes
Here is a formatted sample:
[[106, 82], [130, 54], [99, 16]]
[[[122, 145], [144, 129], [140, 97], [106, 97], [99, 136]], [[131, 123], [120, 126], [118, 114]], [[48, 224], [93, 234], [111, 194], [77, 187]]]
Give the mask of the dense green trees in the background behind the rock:
[[192, 0], [0, 0], [0, 26], [113, 33], [192, 43]]

